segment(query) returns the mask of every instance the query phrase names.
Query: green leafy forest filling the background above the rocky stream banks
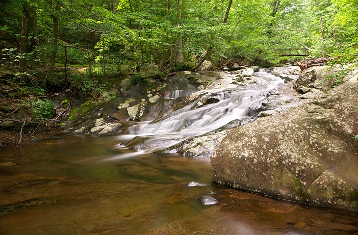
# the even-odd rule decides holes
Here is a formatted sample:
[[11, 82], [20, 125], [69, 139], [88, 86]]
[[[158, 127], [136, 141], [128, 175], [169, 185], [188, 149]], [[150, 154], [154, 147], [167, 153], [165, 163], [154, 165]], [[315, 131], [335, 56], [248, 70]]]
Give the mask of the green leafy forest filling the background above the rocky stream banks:
[[357, 0], [3, 0], [1, 67], [64, 63], [126, 73], [143, 63], [195, 69], [219, 63], [281, 62], [279, 50], [356, 60]]

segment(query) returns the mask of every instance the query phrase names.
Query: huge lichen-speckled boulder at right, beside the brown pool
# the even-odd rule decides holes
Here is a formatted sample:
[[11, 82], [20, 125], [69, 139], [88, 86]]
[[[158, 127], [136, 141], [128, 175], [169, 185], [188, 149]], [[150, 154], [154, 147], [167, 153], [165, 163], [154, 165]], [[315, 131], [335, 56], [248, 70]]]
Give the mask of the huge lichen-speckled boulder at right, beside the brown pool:
[[358, 82], [233, 129], [211, 156], [213, 181], [358, 210]]

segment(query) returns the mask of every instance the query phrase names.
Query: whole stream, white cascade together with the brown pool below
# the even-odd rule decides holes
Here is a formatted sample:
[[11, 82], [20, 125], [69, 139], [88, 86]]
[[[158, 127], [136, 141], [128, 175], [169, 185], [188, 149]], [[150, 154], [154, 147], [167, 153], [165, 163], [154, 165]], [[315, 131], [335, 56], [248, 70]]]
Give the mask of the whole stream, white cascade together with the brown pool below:
[[249, 106], [283, 83], [265, 71], [254, 76], [255, 85], [140, 122], [129, 135], [59, 134], [0, 147], [0, 234], [357, 234], [357, 213], [215, 185], [208, 157], [154, 153], [249, 119]]

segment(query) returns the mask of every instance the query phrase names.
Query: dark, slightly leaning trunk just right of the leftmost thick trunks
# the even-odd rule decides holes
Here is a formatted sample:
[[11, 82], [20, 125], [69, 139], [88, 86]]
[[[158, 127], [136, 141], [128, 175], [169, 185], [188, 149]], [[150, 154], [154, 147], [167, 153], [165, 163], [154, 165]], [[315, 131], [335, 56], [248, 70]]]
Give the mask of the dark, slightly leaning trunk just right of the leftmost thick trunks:
[[[50, 7], [52, 6], [52, 0], [50, 0]], [[60, 1], [56, 0], [55, 11], [59, 11], [60, 9]], [[49, 62], [49, 70], [46, 74], [46, 80], [53, 78], [54, 70], [55, 70], [55, 61], [57, 55], [57, 44], [58, 44], [58, 17], [56, 14], [52, 14], [52, 56]]]

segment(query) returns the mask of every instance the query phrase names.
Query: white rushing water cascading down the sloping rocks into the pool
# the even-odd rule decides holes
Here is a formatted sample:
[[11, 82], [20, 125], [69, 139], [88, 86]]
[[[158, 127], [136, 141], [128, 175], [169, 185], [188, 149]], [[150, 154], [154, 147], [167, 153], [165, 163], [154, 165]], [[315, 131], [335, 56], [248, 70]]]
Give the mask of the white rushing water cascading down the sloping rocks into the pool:
[[[230, 89], [217, 89], [208, 93], [219, 94], [214, 104], [202, 104], [201, 95], [190, 104], [153, 121], [141, 122], [120, 136], [130, 146], [145, 152], [167, 149], [190, 137], [200, 136], [224, 127], [233, 120], [249, 118], [248, 108], [265, 99], [267, 93], [283, 83], [279, 77], [260, 70], [253, 74], [256, 84]], [[218, 98], [218, 97], [216, 97]], [[124, 147], [123, 145], [119, 145]]]

